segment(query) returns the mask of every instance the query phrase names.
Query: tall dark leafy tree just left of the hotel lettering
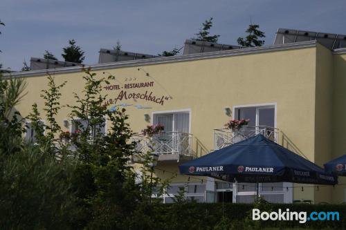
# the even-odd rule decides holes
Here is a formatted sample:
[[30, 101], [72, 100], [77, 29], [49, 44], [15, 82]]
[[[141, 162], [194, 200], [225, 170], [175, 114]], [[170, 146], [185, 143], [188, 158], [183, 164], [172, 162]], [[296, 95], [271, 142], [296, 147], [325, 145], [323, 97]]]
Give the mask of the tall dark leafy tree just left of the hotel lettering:
[[[84, 95], [75, 94], [76, 104], [69, 106], [71, 118], [86, 121], [86, 126], [75, 121], [80, 133], [71, 143], [79, 158], [75, 187], [88, 216], [88, 229], [122, 229], [122, 220], [140, 200], [136, 173], [128, 164], [135, 143], [129, 142], [132, 132], [125, 110], [109, 111], [104, 106], [101, 89], [107, 80], [96, 79], [90, 70], [85, 73]], [[104, 135], [100, 131], [106, 117], [109, 131]]]

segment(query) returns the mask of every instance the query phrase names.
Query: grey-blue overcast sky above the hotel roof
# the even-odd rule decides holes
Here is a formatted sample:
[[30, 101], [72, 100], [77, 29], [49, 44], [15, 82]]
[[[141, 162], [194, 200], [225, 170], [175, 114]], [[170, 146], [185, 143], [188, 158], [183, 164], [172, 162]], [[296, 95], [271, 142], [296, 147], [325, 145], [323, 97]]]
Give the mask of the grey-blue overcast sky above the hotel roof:
[[1, 0], [0, 63], [19, 70], [30, 57], [62, 48], [75, 39], [85, 64], [98, 62], [100, 48], [120, 41], [122, 50], [156, 55], [181, 48], [204, 20], [214, 17], [219, 43], [237, 44], [252, 18], [273, 44], [277, 28], [346, 34], [345, 0]]

